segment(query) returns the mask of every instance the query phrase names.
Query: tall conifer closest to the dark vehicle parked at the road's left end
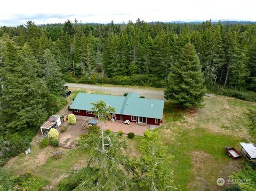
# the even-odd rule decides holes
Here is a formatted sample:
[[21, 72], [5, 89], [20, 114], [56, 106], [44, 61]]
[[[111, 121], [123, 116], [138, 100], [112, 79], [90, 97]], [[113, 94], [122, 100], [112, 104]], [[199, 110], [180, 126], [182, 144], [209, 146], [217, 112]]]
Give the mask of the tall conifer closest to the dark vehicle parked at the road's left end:
[[44, 52], [42, 64], [47, 88], [53, 94], [62, 94], [65, 81], [62, 79], [62, 73], [49, 49]]

